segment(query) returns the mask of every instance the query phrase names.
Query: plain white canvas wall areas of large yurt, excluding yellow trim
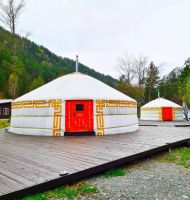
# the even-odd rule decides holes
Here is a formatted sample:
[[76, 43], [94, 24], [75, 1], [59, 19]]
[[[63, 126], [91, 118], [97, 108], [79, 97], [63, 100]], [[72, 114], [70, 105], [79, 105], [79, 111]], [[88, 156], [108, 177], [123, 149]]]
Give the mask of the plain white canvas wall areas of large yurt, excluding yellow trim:
[[[61, 135], [65, 131], [65, 101], [62, 102]], [[136, 108], [104, 108], [104, 134], [131, 132], [138, 129]], [[10, 132], [25, 135], [53, 135], [54, 108], [12, 109]], [[94, 130], [97, 132], [96, 101]]]

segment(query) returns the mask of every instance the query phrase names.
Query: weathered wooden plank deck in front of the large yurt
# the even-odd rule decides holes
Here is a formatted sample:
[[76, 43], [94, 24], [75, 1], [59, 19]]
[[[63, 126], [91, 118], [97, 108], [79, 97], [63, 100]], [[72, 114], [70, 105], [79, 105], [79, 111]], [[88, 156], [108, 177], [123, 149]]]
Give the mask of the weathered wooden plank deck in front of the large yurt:
[[[54, 188], [188, 141], [189, 127], [140, 127], [135, 133], [94, 137], [1, 133], [0, 199]], [[60, 177], [62, 170], [69, 174]]]

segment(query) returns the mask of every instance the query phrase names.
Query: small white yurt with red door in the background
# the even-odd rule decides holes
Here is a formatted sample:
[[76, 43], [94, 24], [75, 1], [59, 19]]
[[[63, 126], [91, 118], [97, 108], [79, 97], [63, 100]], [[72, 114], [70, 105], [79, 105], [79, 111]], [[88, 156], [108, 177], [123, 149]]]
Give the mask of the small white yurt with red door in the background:
[[167, 99], [157, 98], [141, 107], [141, 120], [183, 120], [183, 108]]

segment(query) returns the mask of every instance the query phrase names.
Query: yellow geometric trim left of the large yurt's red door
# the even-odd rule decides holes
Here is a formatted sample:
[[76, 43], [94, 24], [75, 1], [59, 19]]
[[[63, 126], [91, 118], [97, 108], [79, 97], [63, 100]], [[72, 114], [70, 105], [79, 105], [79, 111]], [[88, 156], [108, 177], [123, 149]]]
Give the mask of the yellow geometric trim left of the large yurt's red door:
[[53, 136], [61, 136], [62, 100], [29, 100], [12, 102], [12, 109], [19, 108], [54, 108]]

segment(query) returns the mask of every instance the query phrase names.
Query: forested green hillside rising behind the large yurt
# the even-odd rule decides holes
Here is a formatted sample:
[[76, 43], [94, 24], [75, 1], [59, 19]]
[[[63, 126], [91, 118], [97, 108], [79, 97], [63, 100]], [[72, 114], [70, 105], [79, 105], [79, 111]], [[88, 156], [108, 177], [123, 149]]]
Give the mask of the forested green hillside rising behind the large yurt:
[[[12, 35], [0, 27], [0, 98], [11, 98], [13, 80], [16, 80], [16, 96], [20, 96], [59, 76], [75, 71], [75, 61], [62, 58], [47, 48], [30, 40], [16, 36], [16, 68], [12, 67]], [[83, 64], [80, 72], [115, 87], [117, 80], [101, 74]], [[16, 70], [17, 77], [14, 77]]]

